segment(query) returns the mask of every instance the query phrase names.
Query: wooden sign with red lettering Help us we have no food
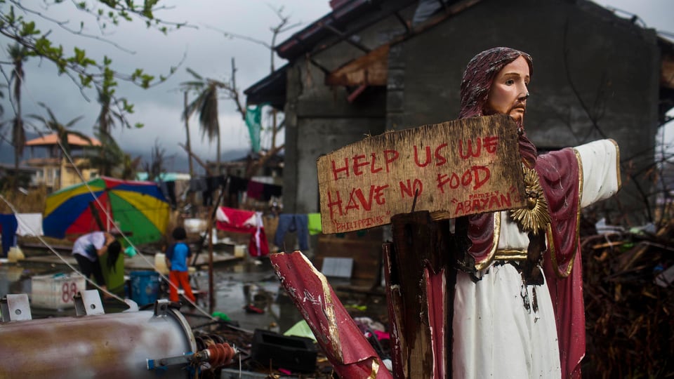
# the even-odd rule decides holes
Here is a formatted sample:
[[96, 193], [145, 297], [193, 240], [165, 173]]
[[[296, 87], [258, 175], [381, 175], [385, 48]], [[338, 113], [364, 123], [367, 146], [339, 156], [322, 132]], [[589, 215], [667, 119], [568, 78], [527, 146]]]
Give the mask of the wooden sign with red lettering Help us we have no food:
[[413, 205], [436, 219], [522, 208], [520, 162], [507, 115], [366, 138], [317, 161], [323, 232], [385, 225]]

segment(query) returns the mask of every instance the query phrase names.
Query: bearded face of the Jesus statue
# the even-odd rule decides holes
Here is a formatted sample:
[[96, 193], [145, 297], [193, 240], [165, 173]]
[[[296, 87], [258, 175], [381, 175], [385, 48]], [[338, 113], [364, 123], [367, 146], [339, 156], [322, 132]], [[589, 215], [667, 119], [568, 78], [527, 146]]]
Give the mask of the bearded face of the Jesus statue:
[[519, 58], [503, 66], [489, 88], [485, 114], [510, 114], [517, 125], [524, 125], [524, 112], [529, 96], [529, 65]]

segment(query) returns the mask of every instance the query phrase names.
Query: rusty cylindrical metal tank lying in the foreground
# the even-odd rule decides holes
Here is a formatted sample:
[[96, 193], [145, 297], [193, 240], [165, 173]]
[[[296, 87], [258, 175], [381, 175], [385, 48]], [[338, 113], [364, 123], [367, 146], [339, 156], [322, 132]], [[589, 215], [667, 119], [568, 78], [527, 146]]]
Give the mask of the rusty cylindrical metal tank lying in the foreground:
[[26, 295], [7, 295], [0, 304], [0, 378], [188, 378], [186, 365], [147, 368], [148, 360], [196, 351], [183, 315], [166, 300], [154, 310], [134, 305], [105, 314], [98, 292], [85, 291], [75, 302], [77, 316], [33, 320]]

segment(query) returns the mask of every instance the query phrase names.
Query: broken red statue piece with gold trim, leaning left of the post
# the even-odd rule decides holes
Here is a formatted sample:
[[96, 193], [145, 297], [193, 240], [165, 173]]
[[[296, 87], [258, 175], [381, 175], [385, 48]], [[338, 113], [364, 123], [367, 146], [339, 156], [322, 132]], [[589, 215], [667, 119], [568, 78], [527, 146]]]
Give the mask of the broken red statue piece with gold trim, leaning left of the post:
[[391, 378], [326, 278], [299, 251], [270, 255], [272, 265], [340, 378]]

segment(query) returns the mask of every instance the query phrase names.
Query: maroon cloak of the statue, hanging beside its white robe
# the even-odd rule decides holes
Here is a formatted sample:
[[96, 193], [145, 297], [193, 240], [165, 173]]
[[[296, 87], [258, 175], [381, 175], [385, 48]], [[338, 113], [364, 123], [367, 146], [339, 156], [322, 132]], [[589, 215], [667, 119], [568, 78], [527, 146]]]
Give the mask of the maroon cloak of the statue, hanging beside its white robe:
[[[548, 253], [544, 254], [543, 270], [555, 310], [562, 378], [579, 378], [580, 362], [585, 357], [586, 346], [578, 233], [578, 216], [581, 210], [579, 163], [574, 150], [567, 148], [539, 155], [535, 169], [548, 201], [551, 219]], [[470, 216], [468, 237], [473, 243], [469, 249], [470, 254], [475, 262], [481, 262], [494, 245], [493, 214]]]

